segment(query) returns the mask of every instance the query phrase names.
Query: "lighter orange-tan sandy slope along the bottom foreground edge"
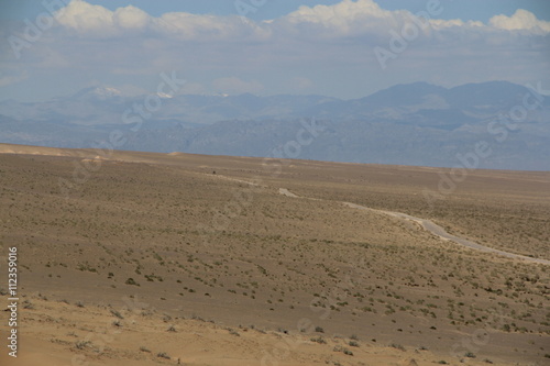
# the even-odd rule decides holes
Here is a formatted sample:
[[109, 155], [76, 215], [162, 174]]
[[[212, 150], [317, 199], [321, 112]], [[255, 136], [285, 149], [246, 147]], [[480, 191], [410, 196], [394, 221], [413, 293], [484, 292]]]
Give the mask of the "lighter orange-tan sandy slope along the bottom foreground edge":
[[[433, 365], [447, 361], [460, 365], [449, 354], [369, 345], [361, 340], [350, 346], [349, 339], [320, 333], [284, 334], [253, 329], [229, 329], [202, 320], [168, 319], [155, 310], [79, 308], [65, 302], [33, 297], [33, 309], [20, 311], [19, 357], [2, 351], [0, 364], [7, 366], [62, 365]], [[118, 311], [124, 319], [117, 318]], [[119, 322], [119, 326], [113, 322]], [[168, 331], [173, 326], [175, 332]], [[6, 339], [2, 329], [2, 339]], [[312, 342], [322, 337], [327, 343]], [[340, 350], [340, 351], [339, 351]], [[349, 350], [353, 355], [346, 355]], [[160, 357], [166, 353], [169, 358]], [[486, 365], [469, 358], [469, 365]], [[497, 363], [495, 363], [497, 365]], [[512, 364], [499, 364], [512, 365]]]

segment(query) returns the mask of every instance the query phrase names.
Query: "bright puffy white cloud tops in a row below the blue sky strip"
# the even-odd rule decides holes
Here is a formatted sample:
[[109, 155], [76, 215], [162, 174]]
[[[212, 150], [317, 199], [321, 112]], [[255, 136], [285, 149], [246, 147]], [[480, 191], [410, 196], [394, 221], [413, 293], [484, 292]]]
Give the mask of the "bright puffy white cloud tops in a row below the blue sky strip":
[[[444, 11], [441, 5], [436, 14]], [[496, 27], [509, 31], [528, 30], [535, 33], [550, 32], [550, 22], [538, 20], [535, 14], [519, 9], [512, 16], [495, 15], [490, 24], [460, 19], [442, 20], [428, 11], [433, 31], [442, 29]], [[416, 15], [407, 10], [385, 10], [374, 0], [342, 0], [333, 5], [299, 7], [279, 19], [261, 23], [241, 16], [218, 16], [185, 12], [165, 13], [158, 18], [129, 5], [110, 11], [84, 0], [73, 0], [58, 16], [59, 23], [80, 35], [90, 37], [122, 36], [140, 32], [153, 32], [184, 41], [268, 41], [273, 35], [288, 33], [319, 38], [356, 36], [362, 34], [385, 35], [389, 30], [400, 30], [410, 24]], [[424, 19], [420, 19], [424, 21]], [[418, 23], [418, 22], [417, 22]], [[426, 34], [429, 30], [425, 30]]]

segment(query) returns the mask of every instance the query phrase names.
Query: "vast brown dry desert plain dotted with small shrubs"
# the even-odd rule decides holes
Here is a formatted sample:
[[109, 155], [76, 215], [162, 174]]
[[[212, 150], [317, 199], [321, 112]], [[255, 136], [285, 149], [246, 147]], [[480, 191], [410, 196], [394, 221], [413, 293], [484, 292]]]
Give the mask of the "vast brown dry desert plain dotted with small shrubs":
[[22, 295], [20, 357], [2, 365], [550, 362], [549, 266], [341, 203], [550, 259], [550, 173], [470, 171], [428, 202], [449, 170], [0, 153], [1, 255], [18, 247]]

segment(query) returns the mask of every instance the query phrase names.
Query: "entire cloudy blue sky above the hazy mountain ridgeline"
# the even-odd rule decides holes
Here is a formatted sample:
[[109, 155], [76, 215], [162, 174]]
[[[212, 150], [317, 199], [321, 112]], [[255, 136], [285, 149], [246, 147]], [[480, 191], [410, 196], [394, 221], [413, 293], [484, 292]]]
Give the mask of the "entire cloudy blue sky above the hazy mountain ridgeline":
[[[50, 9], [45, 4], [51, 4]], [[550, 86], [546, 0], [0, 2], [0, 100], [90, 86], [361, 98], [396, 84]]]

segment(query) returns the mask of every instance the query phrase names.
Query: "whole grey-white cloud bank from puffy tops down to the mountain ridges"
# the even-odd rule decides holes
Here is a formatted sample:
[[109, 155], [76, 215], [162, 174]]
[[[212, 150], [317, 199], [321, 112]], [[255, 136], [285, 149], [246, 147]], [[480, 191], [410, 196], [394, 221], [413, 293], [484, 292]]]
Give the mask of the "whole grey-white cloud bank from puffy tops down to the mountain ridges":
[[[385, 10], [373, 0], [342, 0], [254, 22], [237, 11], [152, 16], [132, 5], [111, 11], [73, 0], [32, 47], [22, 48], [24, 57], [0, 59], [6, 75], [0, 91], [12, 87], [16, 95], [34, 82], [38, 93], [54, 76], [70, 79], [66, 90], [89, 80], [150, 89], [160, 73], [177, 70], [193, 86], [184, 92], [350, 98], [416, 80], [452, 86], [550, 75], [550, 22], [521, 9], [487, 23], [446, 20], [444, 12], [437, 0], [427, 1], [419, 14]], [[24, 37], [23, 31], [12, 34]], [[400, 52], [383, 69], [374, 51], [392, 45]]]

